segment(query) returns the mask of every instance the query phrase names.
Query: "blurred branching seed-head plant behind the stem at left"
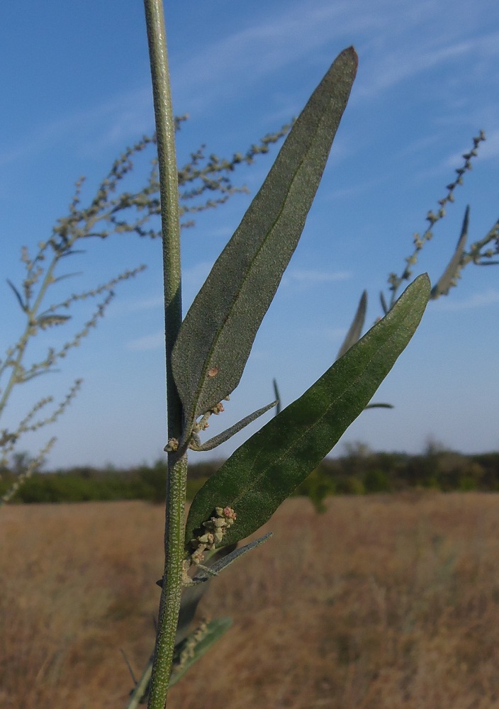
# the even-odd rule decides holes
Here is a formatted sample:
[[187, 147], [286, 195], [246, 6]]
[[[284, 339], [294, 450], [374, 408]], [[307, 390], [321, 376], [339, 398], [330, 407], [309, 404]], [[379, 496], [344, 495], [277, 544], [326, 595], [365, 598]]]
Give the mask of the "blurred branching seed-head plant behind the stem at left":
[[[179, 129], [186, 116], [175, 118], [175, 128]], [[276, 143], [288, 131], [288, 126], [271, 135], [266, 135], [259, 143], [252, 145], [244, 154], [236, 153], [230, 159], [220, 159], [216, 155], [206, 157], [205, 148], [201, 146], [191, 153], [190, 160], [178, 171], [179, 198], [181, 206], [179, 214], [182, 226], [194, 225], [193, 216], [203, 210], [211, 209], [225, 203], [230, 196], [245, 191], [245, 187], [232, 184], [231, 174], [239, 164], [251, 164], [257, 155], [268, 152], [269, 145]], [[26, 384], [35, 377], [56, 371], [56, 367], [67, 354], [77, 347], [89, 334], [98, 320], [103, 317], [111, 302], [116, 285], [123, 280], [134, 277], [145, 266], [125, 271], [110, 279], [106, 284], [93, 289], [80, 291], [77, 294], [60, 296], [55, 302], [49, 298], [57, 283], [68, 277], [79, 275], [67, 272], [60, 273], [60, 267], [67, 264], [67, 257], [72, 261], [82, 253], [82, 245], [90, 238], [101, 240], [113, 234], [135, 233], [140, 237], [156, 238], [159, 230], [154, 228], [152, 219], [159, 214], [159, 177], [157, 160], [152, 160], [152, 169], [145, 185], [135, 191], [123, 189], [123, 180], [133, 169], [133, 158], [155, 145], [155, 137], [145, 136], [133, 147], [123, 152], [123, 155], [113, 163], [111, 170], [99, 184], [92, 199], [83, 203], [82, 188], [84, 179], [77, 182], [76, 190], [69, 204], [69, 213], [60, 218], [52, 230], [50, 238], [38, 244], [35, 255], [30, 255], [27, 247], [21, 249], [21, 261], [25, 276], [20, 286], [8, 281], [13, 298], [23, 313], [23, 331], [18, 340], [6, 349], [4, 359], [0, 360], [0, 420], [6, 420], [8, 404], [11, 396], [20, 384]], [[103, 296], [94, 312], [62, 347], [48, 347], [41, 359], [27, 364], [30, 356], [30, 345], [40, 330], [60, 328], [69, 324], [72, 317], [68, 314], [75, 303], [89, 298]], [[54, 423], [65, 412], [69, 403], [77, 395], [82, 380], [77, 379], [72, 384], [63, 401], [53, 407], [52, 396], [44, 396], [33, 403], [17, 423], [12, 421], [0, 430], [0, 468], [13, 459], [19, 451], [19, 443], [28, 432], [40, 430], [45, 425]], [[48, 411], [52, 406], [52, 411]], [[45, 413], [47, 412], [48, 413]], [[47, 440], [42, 449], [30, 458], [23, 467], [15, 484], [0, 499], [0, 504], [9, 501], [18, 487], [34, 471], [40, 468], [45, 454], [54, 445], [55, 437]]]

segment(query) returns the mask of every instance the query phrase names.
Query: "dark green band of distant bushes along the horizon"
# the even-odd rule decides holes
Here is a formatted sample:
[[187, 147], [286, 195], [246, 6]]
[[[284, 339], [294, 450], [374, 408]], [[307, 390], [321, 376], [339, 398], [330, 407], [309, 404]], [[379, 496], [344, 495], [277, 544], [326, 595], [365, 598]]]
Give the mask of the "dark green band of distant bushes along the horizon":
[[[1, 469], [0, 496], [29, 464], [16, 459], [17, 469]], [[189, 465], [187, 496], [191, 500], [221, 461]], [[162, 503], [166, 462], [129, 470], [88, 466], [38, 473], [18, 489], [13, 502], [55, 503], [111, 500], [147, 500]], [[318, 510], [331, 495], [398, 492], [409, 489], [499, 491], [499, 452], [465, 455], [429, 443], [420, 455], [372, 452], [366, 445], [347, 446], [347, 454], [325, 458], [296, 489], [295, 496], [310, 498]]]

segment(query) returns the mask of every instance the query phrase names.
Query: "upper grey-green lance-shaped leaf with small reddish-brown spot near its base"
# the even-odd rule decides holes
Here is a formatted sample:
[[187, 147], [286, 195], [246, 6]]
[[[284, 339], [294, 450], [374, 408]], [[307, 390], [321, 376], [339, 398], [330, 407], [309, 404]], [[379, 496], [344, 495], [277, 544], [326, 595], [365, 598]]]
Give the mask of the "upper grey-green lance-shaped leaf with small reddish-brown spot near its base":
[[239, 384], [298, 244], [356, 72], [354, 49], [344, 50], [294, 123], [181, 325], [172, 367], [188, 428]]

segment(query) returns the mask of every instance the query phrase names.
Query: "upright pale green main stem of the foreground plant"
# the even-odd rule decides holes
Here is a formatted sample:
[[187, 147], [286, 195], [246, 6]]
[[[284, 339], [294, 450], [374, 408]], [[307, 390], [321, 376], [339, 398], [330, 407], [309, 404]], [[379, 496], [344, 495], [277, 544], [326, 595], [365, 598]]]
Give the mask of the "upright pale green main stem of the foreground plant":
[[[168, 438], [181, 436], [182, 407], [172, 374], [172, 348], [182, 320], [179, 185], [175, 157], [175, 124], [170, 92], [167, 37], [162, 0], [144, 0], [147, 42], [155, 105], [159, 194], [164, 272], [164, 325], [166, 333]], [[187, 456], [169, 453], [164, 528], [164, 576], [152, 665], [148, 709], [164, 709], [175, 644], [184, 560], [184, 508]]]

